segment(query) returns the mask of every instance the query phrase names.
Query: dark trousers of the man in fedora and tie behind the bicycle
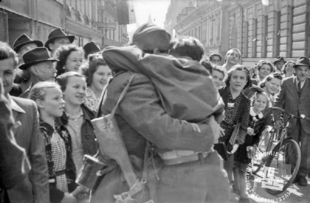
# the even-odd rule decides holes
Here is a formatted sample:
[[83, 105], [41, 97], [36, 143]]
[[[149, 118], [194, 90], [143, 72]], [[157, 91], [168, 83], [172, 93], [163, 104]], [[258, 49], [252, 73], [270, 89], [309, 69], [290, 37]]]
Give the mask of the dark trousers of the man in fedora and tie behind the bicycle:
[[[292, 137], [300, 146], [301, 152], [301, 161], [300, 167], [298, 170], [299, 176], [307, 176], [310, 173], [310, 134], [306, 133], [301, 126], [300, 120], [297, 119], [294, 130], [290, 133], [287, 133], [289, 137]], [[295, 156], [292, 154], [292, 156]], [[290, 160], [296, 158], [292, 157]], [[294, 166], [294, 162], [292, 163]], [[292, 166], [292, 169], [294, 168]]]

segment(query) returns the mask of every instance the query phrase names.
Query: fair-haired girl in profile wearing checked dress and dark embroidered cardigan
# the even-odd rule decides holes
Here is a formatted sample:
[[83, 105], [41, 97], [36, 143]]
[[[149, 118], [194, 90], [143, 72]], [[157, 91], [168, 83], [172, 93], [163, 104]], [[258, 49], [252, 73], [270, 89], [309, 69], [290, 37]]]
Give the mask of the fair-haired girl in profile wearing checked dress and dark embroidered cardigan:
[[40, 130], [45, 139], [51, 203], [75, 202], [72, 193], [78, 185], [72, 159], [71, 137], [67, 128], [55, 123], [64, 113], [60, 86], [55, 82], [39, 82], [33, 86], [29, 98], [40, 113]]

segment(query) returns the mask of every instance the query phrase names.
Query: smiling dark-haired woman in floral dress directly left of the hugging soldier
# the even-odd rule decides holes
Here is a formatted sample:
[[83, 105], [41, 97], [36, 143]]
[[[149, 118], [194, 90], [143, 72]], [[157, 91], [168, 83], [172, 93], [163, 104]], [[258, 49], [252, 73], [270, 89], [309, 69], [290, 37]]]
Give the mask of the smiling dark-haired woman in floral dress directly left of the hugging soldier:
[[112, 71], [105, 63], [102, 54], [91, 54], [89, 61], [82, 65], [82, 74], [86, 77], [86, 97], [84, 104], [92, 111], [97, 111], [100, 96]]

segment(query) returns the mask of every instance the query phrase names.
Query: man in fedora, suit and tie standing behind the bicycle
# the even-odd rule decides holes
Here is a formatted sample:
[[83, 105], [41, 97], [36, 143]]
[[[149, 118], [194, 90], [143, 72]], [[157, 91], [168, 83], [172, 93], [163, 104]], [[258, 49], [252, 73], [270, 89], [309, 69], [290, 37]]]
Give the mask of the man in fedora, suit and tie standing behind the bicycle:
[[[281, 91], [276, 99], [275, 107], [282, 108], [285, 105], [285, 111], [295, 116], [310, 115], [310, 61], [308, 57], [300, 57], [293, 65], [296, 76], [283, 79]], [[281, 123], [280, 112], [274, 112], [275, 124], [279, 129]], [[284, 123], [288, 116], [283, 115]], [[301, 162], [295, 182], [300, 186], [306, 186], [306, 175], [310, 173], [310, 122], [301, 119], [291, 119], [291, 126], [288, 130], [288, 137], [292, 137], [297, 143], [300, 143]], [[296, 157], [290, 157], [290, 160], [296, 160]], [[294, 165], [294, 162], [291, 161]], [[292, 167], [294, 169], [294, 167]]]

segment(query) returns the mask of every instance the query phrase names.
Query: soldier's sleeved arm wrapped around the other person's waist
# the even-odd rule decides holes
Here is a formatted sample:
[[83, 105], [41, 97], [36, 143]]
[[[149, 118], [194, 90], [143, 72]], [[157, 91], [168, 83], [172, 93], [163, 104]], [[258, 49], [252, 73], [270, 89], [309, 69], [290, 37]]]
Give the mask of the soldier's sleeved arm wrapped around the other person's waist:
[[[113, 80], [111, 85], [124, 79], [116, 77]], [[113, 95], [106, 98], [111, 104], [117, 99]], [[214, 117], [211, 116], [206, 124], [192, 124], [170, 117], [162, 107], [153, 83], [144, 75], [135, 76], [119, 109], [118, 114], [129, 125], [159, 148], [202, 152], [213, 146], [214, 128], [211, 126], [217, 125]]]

